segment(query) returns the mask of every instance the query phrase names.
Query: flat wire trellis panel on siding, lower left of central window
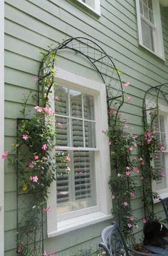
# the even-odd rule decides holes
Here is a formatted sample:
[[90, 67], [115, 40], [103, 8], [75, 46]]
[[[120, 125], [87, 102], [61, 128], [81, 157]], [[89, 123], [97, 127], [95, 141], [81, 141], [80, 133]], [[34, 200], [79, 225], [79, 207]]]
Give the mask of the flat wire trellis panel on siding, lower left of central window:
[[[17, 119], [17, 131], [21, 119]], [[18, 135], [18, 132], [17, 132]], [[29, 177], [28, 163], [30, 153], [25, 144], [16, 148], [16, 184], [17, 184], [17, 255], [43, 254], [43, 212], [36, 208], [36, 202], [43, 197], [41, 191], [29, 190], [23, 180]]]

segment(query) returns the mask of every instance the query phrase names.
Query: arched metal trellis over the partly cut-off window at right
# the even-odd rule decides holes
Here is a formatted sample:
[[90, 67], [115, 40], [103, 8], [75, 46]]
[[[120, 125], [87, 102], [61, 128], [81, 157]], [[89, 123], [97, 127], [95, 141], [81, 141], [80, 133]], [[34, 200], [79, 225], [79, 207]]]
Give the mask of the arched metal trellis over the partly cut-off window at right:
[[[145, 93], [143, 100], [143, 118], [145, 130], [154, 129], [154, 121], [158, 117], [159, 103], [164, 106], [168, 104], [168, 83], [162, 83], [158, 86], [149, 88]], [[146, 165], [142, 167], [143, 171], [143, 193], [145, 200], [145, 217], [154, 217], [153, 198], [152, 198], [152, 177], [151, 163], [149, 156], [145, 157]]]

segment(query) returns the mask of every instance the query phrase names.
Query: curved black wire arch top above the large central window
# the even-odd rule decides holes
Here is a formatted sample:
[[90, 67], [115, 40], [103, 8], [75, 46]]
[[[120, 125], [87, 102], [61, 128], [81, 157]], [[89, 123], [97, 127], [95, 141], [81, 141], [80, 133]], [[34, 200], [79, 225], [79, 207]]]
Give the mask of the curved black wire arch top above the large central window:
[[[107, 88], [107, 106], [113, 108], [117, 112], [124, 103], [124, 96], [122, 90], [122, 81], [120, 78], [120, 71], [117, 70], [113, 59], [105, 53], [103, 48], [98, 46], [98, 43], [91, 41], [84, 37], [75, 37], [67, 39], [63, 43], [59, 44], [56, 48], [52, 48], [46, 53], [38, 72], [38, 103], [40, 105], [41, 88], [43, 88], [43, 79], [46, 79], [51, 74], [51, 69], [54, 68], [54, 60], [52, 61], [52, 67], [48, 67], [48, 61], [51, 58], [51, 51], [54, 56], [63, 49], [69, 49], [80, 53], [92, 63], [94, 68], [100, 74], [100, 77], [105, 83]], [[44, 72], [45, 70], [45, 72]], [[51, 86], [53, 79], [51, 79]], [[49, 86], [51, 88], [51, 86]], [[49, 88], [48, 87], [48, 88]], [[48, 91], [49, 92], [49, 91]], [[46, 95], [46, 99], [48, 94]]]

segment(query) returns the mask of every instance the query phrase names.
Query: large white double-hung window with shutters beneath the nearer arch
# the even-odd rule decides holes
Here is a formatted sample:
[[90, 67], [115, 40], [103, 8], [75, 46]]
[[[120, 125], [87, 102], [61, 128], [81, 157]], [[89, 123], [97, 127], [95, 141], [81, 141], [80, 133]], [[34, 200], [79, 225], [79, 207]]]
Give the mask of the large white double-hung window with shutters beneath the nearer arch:
[[48, 206], [48, 235], [58, 235], [110, 215], [110, 153], [103, 83], [58, 69], [54, 92], [56, 154], [61, 162]]

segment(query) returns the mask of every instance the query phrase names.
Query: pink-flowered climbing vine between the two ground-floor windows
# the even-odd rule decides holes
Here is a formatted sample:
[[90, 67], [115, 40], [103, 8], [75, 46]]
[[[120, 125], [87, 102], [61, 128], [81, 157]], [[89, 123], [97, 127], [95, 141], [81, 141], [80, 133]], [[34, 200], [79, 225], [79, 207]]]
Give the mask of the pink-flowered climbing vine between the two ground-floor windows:
[[[163, 177], [165, 172], [154, 170], [151, 161], [157, 152], [162, 151], [163, 145], [154, 130], [147, 129], [135, 135], [127, 131], [128, 121], [121, 120], [122, 115], [113, 109], [108, 113], [111, 129], [105, 134], [109, 137], [110, 145], [112, 213], [117, 217], [125, 237], [135, 243], [133, 230], [138, 228], [140, 220], [133, 213], [131, 201], [141, 194], [145, 207], [149, 207], [153, 198], [159, 198], [152, 191], [151, 180]], [[145, 215], [142, 221], [149, 217], [152, 216]]]

